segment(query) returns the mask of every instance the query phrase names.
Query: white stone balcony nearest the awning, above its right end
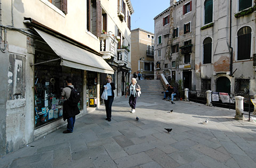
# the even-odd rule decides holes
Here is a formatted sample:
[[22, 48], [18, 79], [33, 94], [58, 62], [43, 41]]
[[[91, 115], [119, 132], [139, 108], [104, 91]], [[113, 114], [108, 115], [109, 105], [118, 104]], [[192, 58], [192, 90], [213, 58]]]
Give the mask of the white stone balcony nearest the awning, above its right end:
[[100, 35], [100, 54], [103, 59], [117, 58], [117, 39], [109, 32]]

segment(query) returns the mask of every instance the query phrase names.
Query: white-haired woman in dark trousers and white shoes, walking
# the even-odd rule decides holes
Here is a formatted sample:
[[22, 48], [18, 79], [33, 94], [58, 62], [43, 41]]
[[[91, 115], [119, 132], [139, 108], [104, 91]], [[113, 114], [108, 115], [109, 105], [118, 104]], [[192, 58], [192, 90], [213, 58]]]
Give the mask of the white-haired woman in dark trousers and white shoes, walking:
[[138, 91], [140, 90], [140, 86], [137, 83], [137, 80], [135, 78], [132, 78], [132, 83], [129, 86], [129, 89], [125, 95], [125, 98], [129, 97], [129, 105], [131, 107], [131, 113], [135, 113], [135, 107], [136, 107], [136, 100], [138, 96]]

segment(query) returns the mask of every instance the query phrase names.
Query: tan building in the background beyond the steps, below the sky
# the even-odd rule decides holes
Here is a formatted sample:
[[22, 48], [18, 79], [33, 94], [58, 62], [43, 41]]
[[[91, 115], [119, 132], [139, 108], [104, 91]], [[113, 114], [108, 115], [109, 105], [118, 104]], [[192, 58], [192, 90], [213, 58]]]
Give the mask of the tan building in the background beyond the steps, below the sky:
[[142, 79], [154, 79], [154, 33], [133, 29], [132, 73], [140, 72]]

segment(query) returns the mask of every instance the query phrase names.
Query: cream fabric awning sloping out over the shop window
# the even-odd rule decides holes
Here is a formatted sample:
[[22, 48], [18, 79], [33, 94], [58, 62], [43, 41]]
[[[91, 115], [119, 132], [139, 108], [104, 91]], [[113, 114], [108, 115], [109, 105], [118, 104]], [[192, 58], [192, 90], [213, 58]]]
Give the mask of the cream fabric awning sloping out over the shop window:
[[114, 70], [101, 56], [53, 37], [41, 30], [34, 29], [61, 58], [60, 65], [87, 71], [114, 73]]

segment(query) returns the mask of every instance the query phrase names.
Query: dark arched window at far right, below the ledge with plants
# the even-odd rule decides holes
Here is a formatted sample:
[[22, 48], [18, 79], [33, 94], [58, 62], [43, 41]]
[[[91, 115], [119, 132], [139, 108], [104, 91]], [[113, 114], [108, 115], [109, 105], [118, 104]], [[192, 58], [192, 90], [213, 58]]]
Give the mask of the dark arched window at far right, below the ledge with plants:
[[246, 60], [251, 57], [251, 31], [252, 29], [246, 26], [237, 32], [237, 60]]

